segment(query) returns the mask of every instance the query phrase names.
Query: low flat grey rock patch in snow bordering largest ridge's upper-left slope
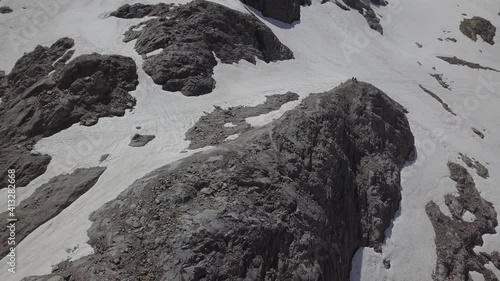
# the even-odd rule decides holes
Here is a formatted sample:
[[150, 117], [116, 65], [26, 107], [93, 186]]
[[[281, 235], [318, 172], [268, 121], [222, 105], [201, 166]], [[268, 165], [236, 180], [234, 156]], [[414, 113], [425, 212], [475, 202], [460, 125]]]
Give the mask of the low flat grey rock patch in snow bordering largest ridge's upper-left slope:
[[[246, 122], [246, 118], [278, 110], [283, 104], [298, 98], [299, 95], [288, 92], [283, 95], [267, 96], [266, 102], [257, 106], [236, 106], [228, 109], [215, 107], [213, 112], [200, 117], [196, 124], [186, 132], [186, 140], [191, 141], [189, 148], [219, 145], [229, 136], [252, 129]], [[228, 124], [230, 126], [227, 126]]]

